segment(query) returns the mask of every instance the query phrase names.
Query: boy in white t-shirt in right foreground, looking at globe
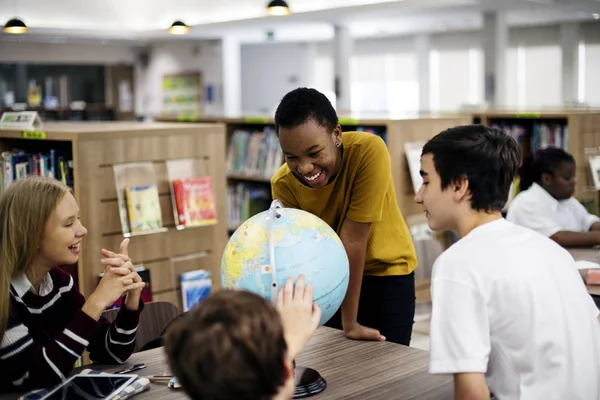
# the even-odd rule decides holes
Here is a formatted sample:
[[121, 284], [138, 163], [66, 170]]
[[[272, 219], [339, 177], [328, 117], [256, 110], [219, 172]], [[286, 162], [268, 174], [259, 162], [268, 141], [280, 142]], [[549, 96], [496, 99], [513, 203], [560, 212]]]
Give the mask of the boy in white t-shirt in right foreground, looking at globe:
[[456, 399], [597, 400], [600, 323], [573, 258], [502, 218], [520, 161], [510, 136], [448, 129], [423, 147], [415, 201], [459, 241], [435, 262], [430, 372]]

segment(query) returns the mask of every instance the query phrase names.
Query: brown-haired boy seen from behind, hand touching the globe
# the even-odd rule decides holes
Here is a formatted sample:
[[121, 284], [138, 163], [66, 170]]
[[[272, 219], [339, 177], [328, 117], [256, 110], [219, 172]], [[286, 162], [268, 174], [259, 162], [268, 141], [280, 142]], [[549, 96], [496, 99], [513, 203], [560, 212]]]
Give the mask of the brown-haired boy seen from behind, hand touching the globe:
[[319, 325], [312, 285], [300, 275], [273, 307], [246, 291], [210, 295], [169, 328], [165, 351], [193, 400], [291, 399], [294, 359]]

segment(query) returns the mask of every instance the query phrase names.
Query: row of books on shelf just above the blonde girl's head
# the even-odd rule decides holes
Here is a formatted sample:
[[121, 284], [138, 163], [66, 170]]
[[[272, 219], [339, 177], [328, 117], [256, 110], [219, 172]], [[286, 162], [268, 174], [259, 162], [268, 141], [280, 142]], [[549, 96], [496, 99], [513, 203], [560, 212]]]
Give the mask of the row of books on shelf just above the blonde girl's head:
[[0, 192], [12, 182], [29, 176], [56, 178], [73, 186], [73, 161], [54, 149], [48, 153], [28, 153], [23, 149], [3, 151], [0, 154], [0, 164]]

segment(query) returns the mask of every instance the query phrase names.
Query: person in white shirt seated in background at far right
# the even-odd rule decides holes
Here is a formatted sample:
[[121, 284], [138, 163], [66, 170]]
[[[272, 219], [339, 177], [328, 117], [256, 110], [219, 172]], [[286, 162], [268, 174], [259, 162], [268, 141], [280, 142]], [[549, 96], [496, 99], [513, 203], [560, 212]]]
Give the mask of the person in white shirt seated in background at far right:
[[575, 160], [564, 150], [547, 148], [523, 162], [520, 193], [506, 219], [533, 229], [563, 247], [600, 244], [600, 218], [573, 197]]

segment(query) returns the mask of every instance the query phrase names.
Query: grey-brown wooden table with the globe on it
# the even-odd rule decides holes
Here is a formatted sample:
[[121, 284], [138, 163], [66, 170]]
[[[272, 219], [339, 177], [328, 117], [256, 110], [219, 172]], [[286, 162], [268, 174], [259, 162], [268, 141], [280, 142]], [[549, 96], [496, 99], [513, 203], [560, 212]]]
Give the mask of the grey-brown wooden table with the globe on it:
[[[169, 373], [163, 349], [134, 354], [124, 366], [96, 368], [106, 372], [143, 362], [140, 375]], [[321, 327], [296, 360], [298, 365], [316, 369], [327, 381], [327, 389], [309, 399], [452, 399], [451, 375], [428, 373], [429, 353], [387, 342], [346, 339], [341, 331]], [[16, 397], [13, 397], [16, 398]], [[186, 399], [182, 390], [152, 383], [149, 391], [135, 400]]]

